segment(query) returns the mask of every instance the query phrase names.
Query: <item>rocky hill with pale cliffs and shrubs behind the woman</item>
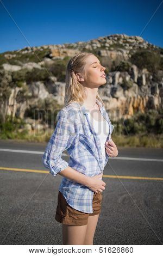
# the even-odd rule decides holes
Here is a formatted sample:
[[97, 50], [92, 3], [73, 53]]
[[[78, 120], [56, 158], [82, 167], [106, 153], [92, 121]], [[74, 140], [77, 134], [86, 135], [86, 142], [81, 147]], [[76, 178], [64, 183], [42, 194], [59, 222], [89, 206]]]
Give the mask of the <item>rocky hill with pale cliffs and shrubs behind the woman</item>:
[[62, 107], [67, 62], [83, 51], [106, 67], [106, 84], [98, 92], [113, 119], [162, 108], [163, 49], [140, 36], [114, 34], [0, 53], [1, 120], [12, 115], [33, 125], [35, 109]]

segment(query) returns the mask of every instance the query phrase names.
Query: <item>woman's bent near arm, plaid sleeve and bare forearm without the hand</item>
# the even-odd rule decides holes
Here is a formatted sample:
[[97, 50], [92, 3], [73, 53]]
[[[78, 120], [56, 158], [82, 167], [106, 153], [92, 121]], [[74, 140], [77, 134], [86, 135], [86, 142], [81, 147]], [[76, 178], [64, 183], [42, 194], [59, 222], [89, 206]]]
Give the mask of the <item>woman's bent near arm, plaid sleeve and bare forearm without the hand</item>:
[[61, 111], [57, 115], [57, 126], [49, 139], [42, 161], [49, 172], [56, 176], [60, 174], [67, 179], [73, 180], [83, 185], [88, 185], [89, 176], [79, 173], [72, 167], [68, 166], [68, 162], [61, 158], [62, 152], [70, 147], [75, 136], [75, 124], [70, 119], [70, 115], [66, 111]]

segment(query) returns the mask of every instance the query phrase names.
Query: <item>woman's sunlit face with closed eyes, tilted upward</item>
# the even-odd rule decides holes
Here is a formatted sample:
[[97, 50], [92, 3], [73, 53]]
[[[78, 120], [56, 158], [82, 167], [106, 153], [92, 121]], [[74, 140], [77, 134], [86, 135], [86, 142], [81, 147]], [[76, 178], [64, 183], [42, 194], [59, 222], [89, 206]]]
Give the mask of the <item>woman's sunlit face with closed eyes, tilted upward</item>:
[[[81, 81], [84, 86], [89, 88], [98, 88], [106, 83], [105, 67], [99, 62], [95, 55], [90, 55], [86, 58], [84, 81]], [[103, 76], [102, 76], [103, 75]]]

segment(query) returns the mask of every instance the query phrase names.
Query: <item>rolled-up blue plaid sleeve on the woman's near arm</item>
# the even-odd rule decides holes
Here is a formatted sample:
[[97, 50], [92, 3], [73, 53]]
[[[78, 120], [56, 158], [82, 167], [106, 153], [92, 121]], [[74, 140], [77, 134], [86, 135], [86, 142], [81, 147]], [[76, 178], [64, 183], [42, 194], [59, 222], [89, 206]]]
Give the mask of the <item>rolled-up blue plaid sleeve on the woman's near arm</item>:
[[55, 130], [42, 156], [43, 165], [49, 169], [53, 176], [68, 166], [68, 162], [63, 160], [61, 155], [64, 150], [70, 147], [73, 135], [73, 122], [68, 117], [67, 112], [61, 109], [57, 115]]

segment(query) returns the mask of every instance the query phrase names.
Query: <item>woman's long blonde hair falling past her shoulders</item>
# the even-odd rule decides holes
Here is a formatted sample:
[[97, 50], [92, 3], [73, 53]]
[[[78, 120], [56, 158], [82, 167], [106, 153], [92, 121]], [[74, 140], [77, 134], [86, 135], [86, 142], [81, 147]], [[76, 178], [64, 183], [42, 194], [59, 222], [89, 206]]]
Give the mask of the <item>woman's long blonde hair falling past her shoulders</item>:
[[[85, 72], [86, 58], [90, 55], [95, 55], [95, 54], [90, 52], [82, 52], [82, 53], [76, 54], [76, 56], [72, 57], [67, 64], [65, 100], [64, 100], [65, 106], [72, 102], [78, 102], [79, 104], [83, 105], [84, 100], [86, 99], [85, 88], [83, 84], [77, 80], [75, 74], [81, 72], [82, 74], [84, 74], [86, 78], [86, 72]], [[102, 105], [104, 105], [104, 102], [99, 96], [98, 92], [97, 92], [96, 99], [98, 99], [102, 103]]]

